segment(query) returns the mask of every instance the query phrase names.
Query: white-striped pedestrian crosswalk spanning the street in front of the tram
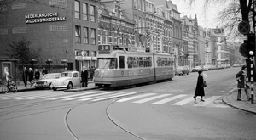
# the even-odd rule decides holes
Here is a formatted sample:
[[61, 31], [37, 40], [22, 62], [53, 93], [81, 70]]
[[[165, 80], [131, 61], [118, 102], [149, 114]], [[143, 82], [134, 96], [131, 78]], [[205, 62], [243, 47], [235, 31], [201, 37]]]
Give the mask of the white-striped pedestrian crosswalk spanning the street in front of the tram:
[[15, 94], [2, 94], [0, 100], [16, 99], [16, 100], [32, 100], [44, 99], [49, 101], [91, 101], [97, 102], [108, 99], [115, 99], [117, 103], [131, 104], [172, 104], [176, 106], [192, 105], [195, 107], [217, 107], [230, 108], [230, 106], [221, 102], [221, 96], [212, 96], [205, 98], [205, 102], [200, 102], [192, 98], [190, 94], [168, 94], [168, 93], [137, 93], [137, 92], [53, 92], [53, 91], [38, 91], [38, 92], [20, 92]]

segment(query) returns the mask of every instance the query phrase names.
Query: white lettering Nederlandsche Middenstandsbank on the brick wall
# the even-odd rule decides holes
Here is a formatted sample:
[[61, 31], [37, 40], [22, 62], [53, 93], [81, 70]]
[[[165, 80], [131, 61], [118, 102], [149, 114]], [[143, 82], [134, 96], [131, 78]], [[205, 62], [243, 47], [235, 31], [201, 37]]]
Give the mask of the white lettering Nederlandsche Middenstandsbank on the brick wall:
[[43, 22], [56, 22], [65, 21], [66, 17], [59, 17], [58, 13], [45, 13], [45, 14], [27, 14], [25, 15], [26, 24], [43, 23]]

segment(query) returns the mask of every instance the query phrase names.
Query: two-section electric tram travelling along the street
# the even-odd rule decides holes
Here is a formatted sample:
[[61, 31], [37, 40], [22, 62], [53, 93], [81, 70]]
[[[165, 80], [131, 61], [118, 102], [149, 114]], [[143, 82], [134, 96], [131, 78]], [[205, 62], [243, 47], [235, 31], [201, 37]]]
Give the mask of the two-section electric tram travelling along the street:
[[172, 80], [175, 76], [173, 60], [169, 53], [137, 52], [117, 45], [99, 45], [95, 84], [98, 87], [124, 87]]

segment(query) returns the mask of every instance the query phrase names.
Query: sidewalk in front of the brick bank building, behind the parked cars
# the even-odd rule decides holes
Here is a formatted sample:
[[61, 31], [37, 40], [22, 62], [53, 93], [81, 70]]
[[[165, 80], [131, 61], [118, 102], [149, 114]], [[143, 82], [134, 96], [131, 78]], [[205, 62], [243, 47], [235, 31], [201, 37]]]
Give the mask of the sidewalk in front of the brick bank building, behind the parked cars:
[[[17, 84], [18, 86], [18, 90], [17, 92], [25, 92], [25, 91], [33, 91], [36, 90], [35, 87], [31, 87], [30, 84], [27, 84], [27, 86], [25, 87], [23, 83], [19, 83]], [[64, 92], [80, 92], [80, 91], [86, 91], [86, 90], [90, 90], [90, 89], [96, 89], [97, 87], [95, 87], [95, 84], [93, 81], [88, 81], [88, 87], [73, 87], [73, 89], [67, 89], [64, 90]], [[0, 93], [2, 92], [2, 87], [0, 87]]]

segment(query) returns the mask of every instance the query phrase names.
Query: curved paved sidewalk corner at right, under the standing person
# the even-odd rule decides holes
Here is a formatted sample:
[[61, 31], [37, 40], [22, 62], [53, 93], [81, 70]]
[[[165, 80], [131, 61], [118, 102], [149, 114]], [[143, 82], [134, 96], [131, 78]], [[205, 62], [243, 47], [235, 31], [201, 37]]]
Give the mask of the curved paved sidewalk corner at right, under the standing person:
[[[249, 92], [249, 95], [251, 97], [251, 92]], [[256, 97], [254, 95], [254, 103], [252, 104], [251, 101], [248, 101], [244, 91], [241, 91], [241, 101], [237, 101], [237, 89], [230, 92], [227, 96], [222, 98], [222, 101], [225, 104], [228, 104], [236, 109], [241, 109], [247, 112], [251, 112], [253, 114], [256, 114]]]

